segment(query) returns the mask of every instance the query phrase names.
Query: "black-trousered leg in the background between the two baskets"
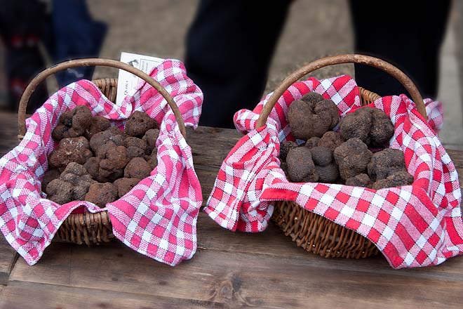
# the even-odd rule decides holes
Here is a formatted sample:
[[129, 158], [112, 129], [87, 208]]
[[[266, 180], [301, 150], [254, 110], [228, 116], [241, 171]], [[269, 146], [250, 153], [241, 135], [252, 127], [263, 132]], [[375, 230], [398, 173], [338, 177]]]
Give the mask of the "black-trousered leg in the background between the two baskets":
[[234, 127], [233, 115], [262, 96], [290, 0], [201, 0], [185, 64], [204, 93], [203, 126]]

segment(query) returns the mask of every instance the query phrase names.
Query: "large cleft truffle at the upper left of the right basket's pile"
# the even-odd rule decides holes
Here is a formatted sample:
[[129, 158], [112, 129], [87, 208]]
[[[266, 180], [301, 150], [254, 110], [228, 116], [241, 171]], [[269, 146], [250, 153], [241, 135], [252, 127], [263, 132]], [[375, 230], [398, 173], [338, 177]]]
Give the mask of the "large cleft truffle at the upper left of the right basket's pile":
[[332, 100], [320, 100], [314, 103], [310, 100], [297, 100], [291, 103], [288, 110], [288, 123], [295, 138], [308, 140], [311, 137], [320, 138], [333, 129], [339, 121], [337, 107]]

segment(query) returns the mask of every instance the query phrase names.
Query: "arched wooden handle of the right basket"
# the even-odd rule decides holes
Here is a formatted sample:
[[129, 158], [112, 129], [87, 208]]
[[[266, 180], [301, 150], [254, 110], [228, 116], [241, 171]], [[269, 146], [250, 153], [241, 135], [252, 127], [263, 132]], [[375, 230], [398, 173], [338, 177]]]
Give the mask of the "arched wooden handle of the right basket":
[[260, 112], [259, 119], [257, 119], [257, 128], [264, 126], [267, 122], [267, 118], [271, 110], [274, 108], [276, 101], [283, 96], [289, 86], [294, 84], [297, 80], [304, 77], [304, 75], [309, 74], [315, 70], [320, 69], [321, 67], [327, 67], [328, 65], [340, 65], [342, 63], [360, 63], [362, 65], [370, 65], [371, 67], [376, 67], [377, 69], [383, 70], [384, 72], [389, 73], [392, 77], [397, 79], [404, 87], [407, 89], [410, 96], [412, 96], [413, 102], [417, 106], [418, 112], [422, 114], [424, 119], [427, 119], [426, 108], [424, 107], [423, 98], [418, 91], [417, 86], [413, 84], [413, 81], [405, 75], [401, 70], [398, 70], [397, 67], [387, 63], [384, 60], [370, 57], [368, 55], [335, 55], [332, 57], [321, 58], [315, 60], [314, 62], [301, 67], [299, 70], [296, 70], [290, 76], [286, 77], [281, 84], [275, 89], [274, 93], [270, 96], [267, 103], [264, 105], [262, 112]]

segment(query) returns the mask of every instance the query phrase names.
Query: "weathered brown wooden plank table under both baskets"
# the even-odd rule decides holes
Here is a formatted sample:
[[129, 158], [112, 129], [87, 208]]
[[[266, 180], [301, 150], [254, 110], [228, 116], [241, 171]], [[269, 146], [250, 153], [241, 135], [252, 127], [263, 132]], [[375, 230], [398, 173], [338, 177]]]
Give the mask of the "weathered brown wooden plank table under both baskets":
[[[17, 145], [15, 115], [0, 113], [0, 155]], [[189, 131], [204, 203], [239, 133]], [[463, 152], [449, 150], [463, 175]], [[462, 178], [460, 178], [462, 181]], [[1, 235], [1, 233], [0, 233]], [[2, 237], [2, 236], [0, 236]], [[199, 214], [198, 251], [175, 268], [119, 242], [52, 243], [28, 266], [0, 239], [0, 308], [463, 308], [463, 258], [393, 270], [382, 256], [361, 260], [309, 254], [271, 224], [229, 232]]]

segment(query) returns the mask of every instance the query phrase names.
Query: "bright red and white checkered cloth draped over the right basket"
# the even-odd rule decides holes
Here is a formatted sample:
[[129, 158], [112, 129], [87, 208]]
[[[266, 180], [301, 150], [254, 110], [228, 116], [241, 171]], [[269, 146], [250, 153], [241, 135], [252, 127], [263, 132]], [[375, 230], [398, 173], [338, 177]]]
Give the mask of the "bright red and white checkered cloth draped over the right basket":
[[272, 110], [267, 126], [255, 130], [264, 98], [254, 111], [235, 114], [243, 136], [224, 160], [206, 213], [229, 230], [260, 232], [274, 211], [272, 202], [290, 200], [305, 209], [368, 237], [393, 268], [437, 265], [463, 252], [461, 192], [457, 170], [436, 132], [441, 103], [425, 100], [428, 123], [405, 95], [387, 96], [372, 105], [394, 123], [390, 147], [403, 150], [412, 185], [371, 190], [347, 185], [290, 183], [280, 169], [280, 141], [294, 140], [285, 114], [309, 91], [333, 100], [343, 117], [360, 107], [351, 77], [311, 78], [288, 89]]

